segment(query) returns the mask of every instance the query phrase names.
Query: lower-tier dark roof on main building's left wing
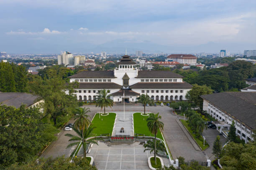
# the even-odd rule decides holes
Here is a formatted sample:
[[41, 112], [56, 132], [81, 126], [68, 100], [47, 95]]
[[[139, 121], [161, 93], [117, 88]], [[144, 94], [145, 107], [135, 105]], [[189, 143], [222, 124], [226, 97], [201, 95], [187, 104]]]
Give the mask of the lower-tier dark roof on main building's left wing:
[[79, 83], [78, 88], [76, 89], [113, 89], [113, 88], [122, 88], [119, 84], [106, 82], [106, 83]]

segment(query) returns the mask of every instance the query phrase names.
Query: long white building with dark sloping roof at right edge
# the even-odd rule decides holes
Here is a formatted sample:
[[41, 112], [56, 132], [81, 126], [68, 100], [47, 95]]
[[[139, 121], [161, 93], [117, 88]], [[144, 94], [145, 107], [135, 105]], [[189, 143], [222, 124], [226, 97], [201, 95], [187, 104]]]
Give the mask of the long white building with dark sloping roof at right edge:
[[247, 143], [252, 139], [252, 130], [256, 128], [256, 92], [222, 92], [202, 95], [203, 110], [214, 119], [220, 132], [228, 131], [232, 121], [236, 135]]

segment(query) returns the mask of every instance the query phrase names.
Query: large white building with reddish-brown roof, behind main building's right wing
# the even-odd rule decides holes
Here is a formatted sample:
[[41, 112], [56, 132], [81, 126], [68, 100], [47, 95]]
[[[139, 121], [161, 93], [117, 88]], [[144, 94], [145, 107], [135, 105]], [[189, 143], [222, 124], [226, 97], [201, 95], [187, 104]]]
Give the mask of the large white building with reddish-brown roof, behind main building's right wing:
[[166, 61], [176, 61], [181, 64], [196, 65], [196, 56], [191, 54], [171, 54], [167, 56]]

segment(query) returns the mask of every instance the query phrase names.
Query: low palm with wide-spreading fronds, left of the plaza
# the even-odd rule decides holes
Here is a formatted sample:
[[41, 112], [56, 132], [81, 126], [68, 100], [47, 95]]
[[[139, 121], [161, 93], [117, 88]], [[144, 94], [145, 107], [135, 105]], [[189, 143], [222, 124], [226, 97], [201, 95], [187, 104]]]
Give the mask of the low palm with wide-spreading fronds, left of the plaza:
[[[98, 143], [96, 141], [102, 140], [101, 138], [93, 138], [93, 139], [88, 139], [86, 140], [88, 137], [92, 137], [93, 133], [92, 131], [95, 129], [96, 127], [92, 127], [92, 125], [90, 125], [89, 127], [85, 128], [84, 131], [82, 132], [82, 130], [77, 129], [76, 127], [74, 127], [74, 131], [76, 132], [76, 135], [72, 135], [70, 133], [67, 133], [65, 136], [71, 137], [71, 139], [69, 139], [68, 141], [76, 141], [74, 143], [70, 143], [67, 148], [75, 146], [75, 145], [79, 145], [82, 141], [82, 147], [83, 147], [83, 156], [84, 158], [86, 158], [86, 144], [88, 143], [94, 143], [96, 145], [98, 145]], [[84, 137], [84, 139], [83, 139]], [[76, 150], [74, 150], [72, 152], [71, 155], [74, 154]]]

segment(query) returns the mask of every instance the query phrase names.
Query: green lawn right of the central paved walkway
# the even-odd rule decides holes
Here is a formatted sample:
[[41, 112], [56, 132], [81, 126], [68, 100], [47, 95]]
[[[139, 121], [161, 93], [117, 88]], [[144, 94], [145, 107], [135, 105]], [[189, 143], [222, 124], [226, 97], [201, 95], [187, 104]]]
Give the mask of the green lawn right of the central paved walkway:
[[[153, 114], [153, 113], [150, 113], [150, 114]], [[140, 133], [140, 134], [144, 134], [145, 136], [154, 137], [154, 135], [150, 133], [150, 131], [148, 130], [147, 121], [146, 121], [147, 118], [148, 116], [142, 116], [140, 113], [133, 114], [134, 133]], [[158, 131], [156, 137], [164, 140], [160, 131]]]

